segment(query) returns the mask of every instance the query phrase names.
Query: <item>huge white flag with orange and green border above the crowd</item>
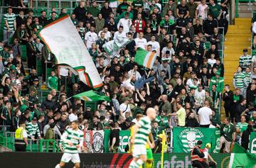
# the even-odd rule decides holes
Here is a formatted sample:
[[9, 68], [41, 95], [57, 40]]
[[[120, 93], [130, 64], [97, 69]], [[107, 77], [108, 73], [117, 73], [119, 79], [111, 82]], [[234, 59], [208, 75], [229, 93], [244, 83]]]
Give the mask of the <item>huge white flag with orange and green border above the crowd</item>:
[[91, 88], [102, 86], [100, 74], [68, 15], [43, 27], [38, 36], [55, 55], [57, 65], [69, 67], [79, 75], [81, 82]]

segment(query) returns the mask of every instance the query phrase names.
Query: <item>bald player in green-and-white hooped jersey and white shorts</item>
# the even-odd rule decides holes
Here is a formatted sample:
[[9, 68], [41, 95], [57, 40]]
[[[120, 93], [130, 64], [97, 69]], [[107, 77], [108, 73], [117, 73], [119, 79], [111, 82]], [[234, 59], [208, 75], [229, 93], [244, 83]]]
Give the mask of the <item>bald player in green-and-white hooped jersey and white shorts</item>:
[[149, 141], [149, 133], [151, 133], [151, 121], [156, 118], [156, 110], [148, 108], [146, 110], [146, 117], [142, 118], [136, 125], [134, 125], [131, 144], [134, 145], [132, 152], [132, 162], [129, 168], [139, 168], [146, 162], [146, 143], [149, 147], [154, 148]]

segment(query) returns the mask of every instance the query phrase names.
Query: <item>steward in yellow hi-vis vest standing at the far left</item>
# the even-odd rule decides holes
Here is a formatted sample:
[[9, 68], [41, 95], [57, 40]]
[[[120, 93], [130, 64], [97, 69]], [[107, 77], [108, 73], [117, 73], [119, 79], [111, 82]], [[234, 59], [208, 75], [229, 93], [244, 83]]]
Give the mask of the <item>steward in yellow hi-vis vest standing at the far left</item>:
[[26, 145], [28, 145], [28, 135], [26, 133], [26, 124], [21, 121], [19, 128], [15, 131], [15, 149], [16, 152], [26, 152]]

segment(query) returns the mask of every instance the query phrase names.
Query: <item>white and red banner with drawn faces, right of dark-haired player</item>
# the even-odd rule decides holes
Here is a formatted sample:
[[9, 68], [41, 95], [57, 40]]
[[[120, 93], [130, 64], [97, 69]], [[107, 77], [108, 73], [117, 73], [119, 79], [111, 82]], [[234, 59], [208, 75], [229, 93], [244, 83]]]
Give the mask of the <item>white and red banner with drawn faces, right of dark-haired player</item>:
[[103, 153], [104, 130], [87, 130], [85, 132], [85, 146], [88, 153]]

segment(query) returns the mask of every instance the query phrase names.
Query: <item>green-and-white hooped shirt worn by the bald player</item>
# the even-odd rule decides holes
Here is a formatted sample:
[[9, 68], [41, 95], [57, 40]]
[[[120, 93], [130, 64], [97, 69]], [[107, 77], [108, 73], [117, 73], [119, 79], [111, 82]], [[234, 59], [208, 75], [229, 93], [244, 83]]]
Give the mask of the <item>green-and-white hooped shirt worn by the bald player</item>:
[[134, 145], [146, 145], [151, 132], [151, 121], [148, 117], [142, 118], [139, 123], [139, 129], [135, 135]]

